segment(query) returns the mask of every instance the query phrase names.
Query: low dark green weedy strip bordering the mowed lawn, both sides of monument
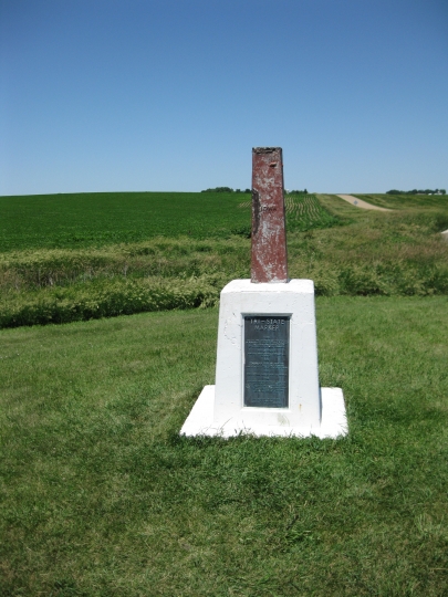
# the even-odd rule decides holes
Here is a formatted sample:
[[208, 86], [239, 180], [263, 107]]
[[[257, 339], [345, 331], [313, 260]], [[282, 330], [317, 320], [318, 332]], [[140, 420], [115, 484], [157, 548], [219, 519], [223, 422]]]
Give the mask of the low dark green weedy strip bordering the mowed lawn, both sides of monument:
[[[309, 277], [317, 296], [448, 294], [448, 268], [409, 268], [400, 262], [333, 270], [317, 263]], [[225, 276], [106, 279], [35, 292], [8, 292], [0, 303], [0, 327], [69, 323], [150, 311], [216, 306]]]

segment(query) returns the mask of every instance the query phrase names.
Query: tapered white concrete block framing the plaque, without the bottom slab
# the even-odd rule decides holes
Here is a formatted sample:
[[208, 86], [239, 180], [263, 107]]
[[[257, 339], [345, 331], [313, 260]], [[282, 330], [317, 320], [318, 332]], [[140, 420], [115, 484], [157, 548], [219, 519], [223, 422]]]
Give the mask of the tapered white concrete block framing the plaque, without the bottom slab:
[[[244, 316], [290, 318], [288, 408], [244, 406]], [[273, 339], [275, 332], [272, 332]], [[215, 427], [317, 427], [321, 423], [314, 284], [232, 280], [221, 291], [215, 377]]]

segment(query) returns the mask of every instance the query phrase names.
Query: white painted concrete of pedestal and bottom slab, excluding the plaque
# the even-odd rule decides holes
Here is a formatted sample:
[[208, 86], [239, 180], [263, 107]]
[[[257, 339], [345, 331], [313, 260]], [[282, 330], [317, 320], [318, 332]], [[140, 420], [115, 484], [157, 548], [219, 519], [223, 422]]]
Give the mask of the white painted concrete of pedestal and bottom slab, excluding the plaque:
[[[244, 407], [244, 316], [290, 317], [288, 408]], [[319, 387], [314, 284], [233, 280], [221, 292], [216, 386], [206, 386], [181, 433], [337, 437], [347, 432], [340, 388]], [[323, 433], [323, 434], [322, 434]]]

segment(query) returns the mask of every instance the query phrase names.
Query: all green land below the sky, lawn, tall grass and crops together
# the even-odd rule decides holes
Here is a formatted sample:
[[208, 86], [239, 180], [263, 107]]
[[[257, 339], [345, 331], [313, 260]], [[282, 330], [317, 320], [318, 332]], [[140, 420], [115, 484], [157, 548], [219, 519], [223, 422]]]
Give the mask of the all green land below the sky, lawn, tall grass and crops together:
[[448, 208], [360, 197], [286, 197], [338, 441], [178, 436], [244, 196], [0, 198], [0, 595], [448, 594]]

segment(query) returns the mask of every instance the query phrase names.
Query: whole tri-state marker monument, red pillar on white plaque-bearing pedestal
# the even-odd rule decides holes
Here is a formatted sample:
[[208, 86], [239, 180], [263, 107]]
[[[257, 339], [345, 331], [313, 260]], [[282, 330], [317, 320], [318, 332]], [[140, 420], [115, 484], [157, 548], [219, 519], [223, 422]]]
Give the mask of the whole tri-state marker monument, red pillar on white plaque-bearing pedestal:
[[251, 280], [221, 291], [216, 385], [180, 433], [337, 438], [341, 388], [319, 385], [314, 284], [289, 280], [280, 147], [252, 149]]

